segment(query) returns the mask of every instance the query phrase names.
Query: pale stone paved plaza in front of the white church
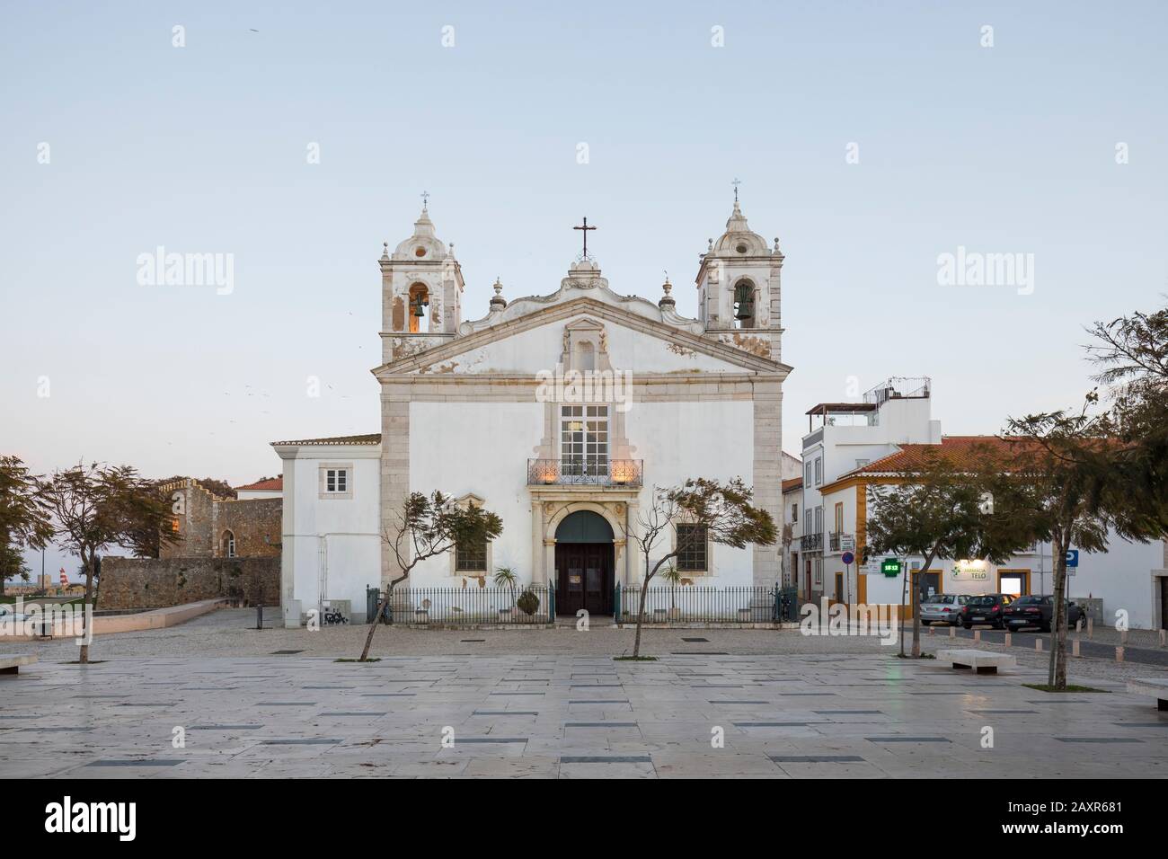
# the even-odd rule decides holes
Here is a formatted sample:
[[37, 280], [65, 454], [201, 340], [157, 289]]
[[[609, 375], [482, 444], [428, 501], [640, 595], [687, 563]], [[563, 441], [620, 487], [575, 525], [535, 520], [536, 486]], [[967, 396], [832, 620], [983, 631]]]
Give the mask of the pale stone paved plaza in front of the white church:
[[[253, 630], [270, 647], [253, 657], [118, 656], [98, 639], [90, 666], [39, 645], [40, 663], [0, 678], [0, 776], [1168, 776], [1168, 713], [1124, 691], [1129, 666], [1076, 660], [1073, 679], [1090, 666], [1108, 693], [1048, 694], [1022, 685], [1044, 681], [1037, 657], [973, 676], [870, 639], [724, 632], [647, 631], [648, 663], [586, 652], [631, 644], [625, 630], [515, 633], [569, 651], [526, 656], [475, 651], [494, 631], [380, 630], [368, 664], [308, 652], [321, 639], [306, 631]], [[730, 652], [739, 636], [790, 650]], [[299, 652], [274, 653], [287, 642]], [[450, 652], [387, 652], [417, 642]]]

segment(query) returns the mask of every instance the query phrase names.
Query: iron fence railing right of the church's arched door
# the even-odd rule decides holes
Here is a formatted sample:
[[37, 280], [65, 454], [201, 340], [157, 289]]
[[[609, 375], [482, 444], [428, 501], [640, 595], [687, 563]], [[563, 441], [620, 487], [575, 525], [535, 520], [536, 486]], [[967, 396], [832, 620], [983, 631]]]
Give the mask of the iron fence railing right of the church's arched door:
[[[645, 595], [642, 623], [776, 623], [798, 610], [791, 595], [787, 602], [790, 607], [781, 588], [651, 584]], [[614, 621], [637, 623], [640, 604], [640, 588], [618, 584], [613, 598]]]

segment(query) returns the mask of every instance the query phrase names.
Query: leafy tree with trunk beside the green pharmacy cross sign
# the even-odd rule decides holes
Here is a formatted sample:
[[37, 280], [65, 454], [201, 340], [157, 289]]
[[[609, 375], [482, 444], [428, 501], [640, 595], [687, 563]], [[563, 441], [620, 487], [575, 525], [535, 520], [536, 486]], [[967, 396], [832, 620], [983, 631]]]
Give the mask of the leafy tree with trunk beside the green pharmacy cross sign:
[[[899, 473], [899, 483], [870, 490], [864, 560], [888, 553], [920, 556], [924, 574], [937, 560], [976, 557], [1001, 563], [1028, 546], [1024, 527], [1004, 514], [996, 500], [990, 506], [987, 498], [997, 469], [988, 444], [975, 446], [969, 460], [960, 463], [944, 449], [926, 449], [919, 466]], [[920, 583], [912, 582], [911, 591], [912, 657], [919, 658]]]

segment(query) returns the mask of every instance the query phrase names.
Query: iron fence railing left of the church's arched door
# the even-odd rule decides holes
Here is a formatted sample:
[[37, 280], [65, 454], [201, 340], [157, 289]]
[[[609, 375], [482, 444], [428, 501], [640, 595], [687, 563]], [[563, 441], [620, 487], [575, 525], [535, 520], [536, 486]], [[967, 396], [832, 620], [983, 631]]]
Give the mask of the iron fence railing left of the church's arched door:
[[[395, 588], [382, 623], [468, 626], [555, 623], [555, 589], [551, 587], [480, 588], [477, 580], [468, 581], [465, 588]], [[367, 618], [371, 623], [381, 593], [369, 588], [368, 598], [373, 608]]]

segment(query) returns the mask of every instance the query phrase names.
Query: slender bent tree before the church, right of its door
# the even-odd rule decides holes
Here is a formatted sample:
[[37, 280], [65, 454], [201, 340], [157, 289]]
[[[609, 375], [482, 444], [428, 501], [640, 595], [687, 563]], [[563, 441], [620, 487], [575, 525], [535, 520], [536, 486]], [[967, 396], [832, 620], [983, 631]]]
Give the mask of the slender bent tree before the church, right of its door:
[[[637, 515], [637, 529], [626, 534], [645, 556], [633, 659], [640, 659], [641, 656], [641, 624], [645, 621], [649, 582], [663, 567], [672, 567], [669, 562], [687, 548], [686, 540], [676, 536], [679, 522], [701, 526], [696, 529], [697, 533], [704, 529], [708, 539], [719, 546], [739, 549], [749, 543], [773, 546], [777, 539], [774, 519], [762, 507], [751, 504], [753, 491], [739, 477], [725, 483], [694, 477], [680, 486], [654, 486], [651, 498], [649, 505], [642, 507]], [[670, 534], [675, 535], [673, 550], [654, 561], [654, 548]]]

